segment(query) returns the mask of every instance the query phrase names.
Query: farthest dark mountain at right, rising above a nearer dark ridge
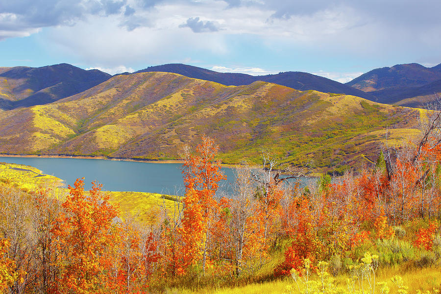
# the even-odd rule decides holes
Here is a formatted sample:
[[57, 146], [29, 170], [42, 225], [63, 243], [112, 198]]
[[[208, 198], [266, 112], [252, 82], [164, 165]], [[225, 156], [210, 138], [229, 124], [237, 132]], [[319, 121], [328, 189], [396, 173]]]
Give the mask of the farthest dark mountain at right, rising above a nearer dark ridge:
[[347, 82], [346, 85], [376, 96], [374, 91], [418, 87], [440, 79], [441, 64], [426, 68], [417, 63], [410, 63], [372, 70]]

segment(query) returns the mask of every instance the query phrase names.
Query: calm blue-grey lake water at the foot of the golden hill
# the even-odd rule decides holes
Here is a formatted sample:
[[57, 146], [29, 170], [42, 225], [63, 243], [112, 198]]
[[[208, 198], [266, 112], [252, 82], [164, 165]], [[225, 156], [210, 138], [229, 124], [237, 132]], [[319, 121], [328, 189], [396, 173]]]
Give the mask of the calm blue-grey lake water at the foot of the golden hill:
[[[85, 188], [97, 180], [105, 191], [153, 192], [179, 195], [184, 189], [181, 167], [177, 163], [147, 163], [104, 159], [0, 157], [0, 162], [35, 167], [45, 174], [63, 179], [73, 186], [84, 177]], [[233, 170], [222, 168], [227, 176], [220, 186], [224, 189], [234, 182]], [[227, 189], [228, 190], [228, 189]]]

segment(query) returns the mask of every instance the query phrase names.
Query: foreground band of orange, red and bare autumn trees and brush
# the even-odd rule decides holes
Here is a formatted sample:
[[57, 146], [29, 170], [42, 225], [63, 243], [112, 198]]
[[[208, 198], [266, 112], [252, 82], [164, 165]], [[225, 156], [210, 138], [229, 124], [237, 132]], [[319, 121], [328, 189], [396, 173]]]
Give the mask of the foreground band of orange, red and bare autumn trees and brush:
[[[438, 293], [440, 127], [441, 112], [427, 111], [417, 140], [307, 185], [264, 152], [261, 168], [237, 168], [231, 195], [216, 194], [219, 146], [203, 137], [183, 153], [185, 195], [144, 223], [98, 183], [84, 191], [78, 179], [67, 196], [1, 183], [0, 289], [211, 293], [283, 281], [279, 293]], [[402, 275], [423, 269], [432, 284], [406, 284]], [[387, 278], [375, 280], [380, 272]]]

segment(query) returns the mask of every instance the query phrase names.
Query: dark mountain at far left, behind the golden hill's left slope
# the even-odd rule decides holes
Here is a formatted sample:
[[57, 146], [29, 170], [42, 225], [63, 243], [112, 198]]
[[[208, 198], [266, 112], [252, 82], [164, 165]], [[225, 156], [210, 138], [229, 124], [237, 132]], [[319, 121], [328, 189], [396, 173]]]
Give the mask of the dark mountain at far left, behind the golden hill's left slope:
[[90, 89], [110, 77], [108, 73], [86, 71], [66, 63], [0, 68], [0, 108], [46, 104]]

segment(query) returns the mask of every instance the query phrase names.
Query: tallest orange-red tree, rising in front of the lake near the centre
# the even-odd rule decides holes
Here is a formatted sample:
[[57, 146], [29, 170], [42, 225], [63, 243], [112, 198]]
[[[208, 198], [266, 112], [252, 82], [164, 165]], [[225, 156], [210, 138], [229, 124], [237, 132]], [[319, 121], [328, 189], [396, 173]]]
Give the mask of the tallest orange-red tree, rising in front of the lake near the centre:
[[226, 177], [221, 173], [221, 162], [216, 159], [219, 146], [209, 137], [202, 137], [196, 147], [196, 155], [190, 150], [184, 154], [183, 171], [185, 197], [182, 227], [179, 230], [182, 240], [181, 265], [178, 273], [201, 262], [205, 271], [212, 245], [212, 229], [218, 203], [214, 195], [218, 183]]

